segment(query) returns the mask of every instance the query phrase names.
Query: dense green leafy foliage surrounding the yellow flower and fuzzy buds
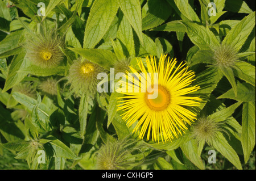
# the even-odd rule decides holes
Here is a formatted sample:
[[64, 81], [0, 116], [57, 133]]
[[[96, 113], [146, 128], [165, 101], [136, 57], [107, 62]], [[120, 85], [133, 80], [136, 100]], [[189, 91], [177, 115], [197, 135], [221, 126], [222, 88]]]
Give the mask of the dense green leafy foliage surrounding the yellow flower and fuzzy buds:
[[[46, 16], [36, 15], [38, 2], [46, 3]], [[208, 15], [209, 2], [216, 16]], [[52, 69], [31, 64], [24, 35], [56, 25], [64, 61]], [[212, 66], [221, 44], [237, 57], [233, 66]], [[202, 89], [195, 94], [204, 98], [198, 116], [221, 122], [221, 130], [212, 144], [197, 142], [191, 130], [167, 144], [138, 141], [148, 147], [144, 164], [134, 169], [255, 169], [255, 1], [241, 0], [1, 1], [0, 169], [96, 169], [95, 150], [132, 128], [116, 110], [118, 94], [89, 101], [68, 96], [69, 66], [83, 56], [109, 69], [126, 58], [135, 65], [138, 57], [161, 53], [196, 72]], [[46, 77], [64, 78], [56, 96], [36, 87]], [[38, 98], [14, 91], [20, 82], [31, 82]], [[26, 119], [17, 110], [26, 110]], [[43, 145], [47, 164], [36, 164], [32, 140]], [[217, 151], [216, 164], [207, 162], [210, 149]]]

